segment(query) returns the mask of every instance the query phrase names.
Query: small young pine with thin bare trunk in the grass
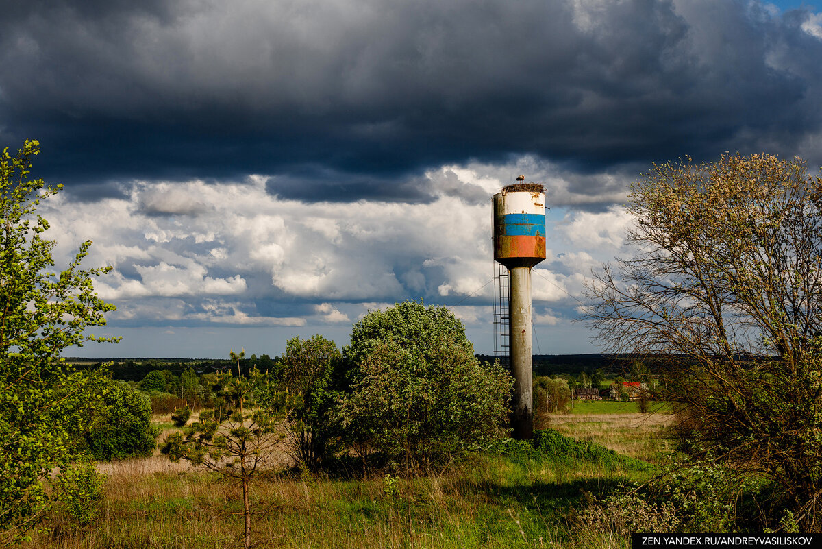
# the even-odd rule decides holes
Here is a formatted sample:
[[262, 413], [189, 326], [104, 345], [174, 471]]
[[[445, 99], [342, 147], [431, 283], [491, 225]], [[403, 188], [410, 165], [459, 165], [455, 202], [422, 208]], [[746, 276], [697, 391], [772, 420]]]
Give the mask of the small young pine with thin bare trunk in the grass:
[[[238, 355], [232, 352], [232, 358], [238, 360]], [[242, 489], [243, 547], [252, 547], [251, 483], [278, 464], [275, 450], [283, 440], [284, 407], [257, 407], [250, 413], [244, 408], [247, 396], [265, 383], [266, 376], [255, 371], [242, 380], [226, 375], [222, 384], [225, 402], [237, 407], [229, 414], [224, 408], [201, 412], [188, 426], [186, 436], [181, 432], [169, 435], [161, 449], [172, 461], [186, 459], [238, 482]]]

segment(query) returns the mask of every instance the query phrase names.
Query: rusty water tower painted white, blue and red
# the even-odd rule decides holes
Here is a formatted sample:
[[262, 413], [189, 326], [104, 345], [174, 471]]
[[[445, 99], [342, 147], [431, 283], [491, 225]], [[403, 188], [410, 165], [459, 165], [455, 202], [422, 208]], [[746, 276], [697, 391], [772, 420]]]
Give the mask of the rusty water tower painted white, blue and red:
[[545, 192], [523, 180], [494, 195], [494, 259], [506, 266], [509, 279], [511, 428], [520, 440], [533, 437], [531, 267], [545, 259]]

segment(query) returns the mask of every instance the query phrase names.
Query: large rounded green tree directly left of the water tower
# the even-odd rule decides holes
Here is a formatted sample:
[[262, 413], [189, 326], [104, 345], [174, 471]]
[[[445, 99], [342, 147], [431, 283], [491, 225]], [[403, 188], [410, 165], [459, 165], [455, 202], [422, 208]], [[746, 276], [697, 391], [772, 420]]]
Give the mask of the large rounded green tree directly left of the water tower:
[[406, 301], [369, 313], [351, 342], [346, 355], [359, 362], [339, 417], [359, 449], [427, 469], [506, 432], [511, 377], [474, 357], [446, 308]]

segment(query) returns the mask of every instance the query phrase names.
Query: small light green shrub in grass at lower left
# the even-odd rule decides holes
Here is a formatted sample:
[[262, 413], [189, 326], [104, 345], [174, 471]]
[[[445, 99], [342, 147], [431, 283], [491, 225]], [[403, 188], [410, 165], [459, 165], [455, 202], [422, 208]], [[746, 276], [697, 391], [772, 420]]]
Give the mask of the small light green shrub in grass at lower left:
[[54, 482], [58, 499], [77, 524], [85, 526], [99, 517], [105, 478], [90, 461], [82, 461], [58, 474]]

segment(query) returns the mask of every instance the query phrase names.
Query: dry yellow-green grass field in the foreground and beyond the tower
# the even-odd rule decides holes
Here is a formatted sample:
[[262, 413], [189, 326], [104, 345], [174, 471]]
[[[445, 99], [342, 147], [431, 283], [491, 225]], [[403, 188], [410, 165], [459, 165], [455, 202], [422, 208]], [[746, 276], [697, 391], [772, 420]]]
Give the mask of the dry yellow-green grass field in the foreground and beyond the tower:
[[[657, 461], [667, 414], [552, 416], [551, 426], [631, 457]], [[612, 403], [621, 404], [621, 403]], [[577, 409], [581, 408], [577, 406]], [[156, 418], [167, 427], [168, 418]], [[618, 456], [617, 456], [618, 458]], [[163, 456], [101, 464], [99, 519], [72, 524], [59, 509], [26, 547], [232, 547], [242, 532], [238, 489]], [[330, 479], [271, 474], [252, 488], [256, 547], [629, 547], [569, 521], [586, 494], [649, 475], [621, 459], [483, 454], [427, 477]]]

